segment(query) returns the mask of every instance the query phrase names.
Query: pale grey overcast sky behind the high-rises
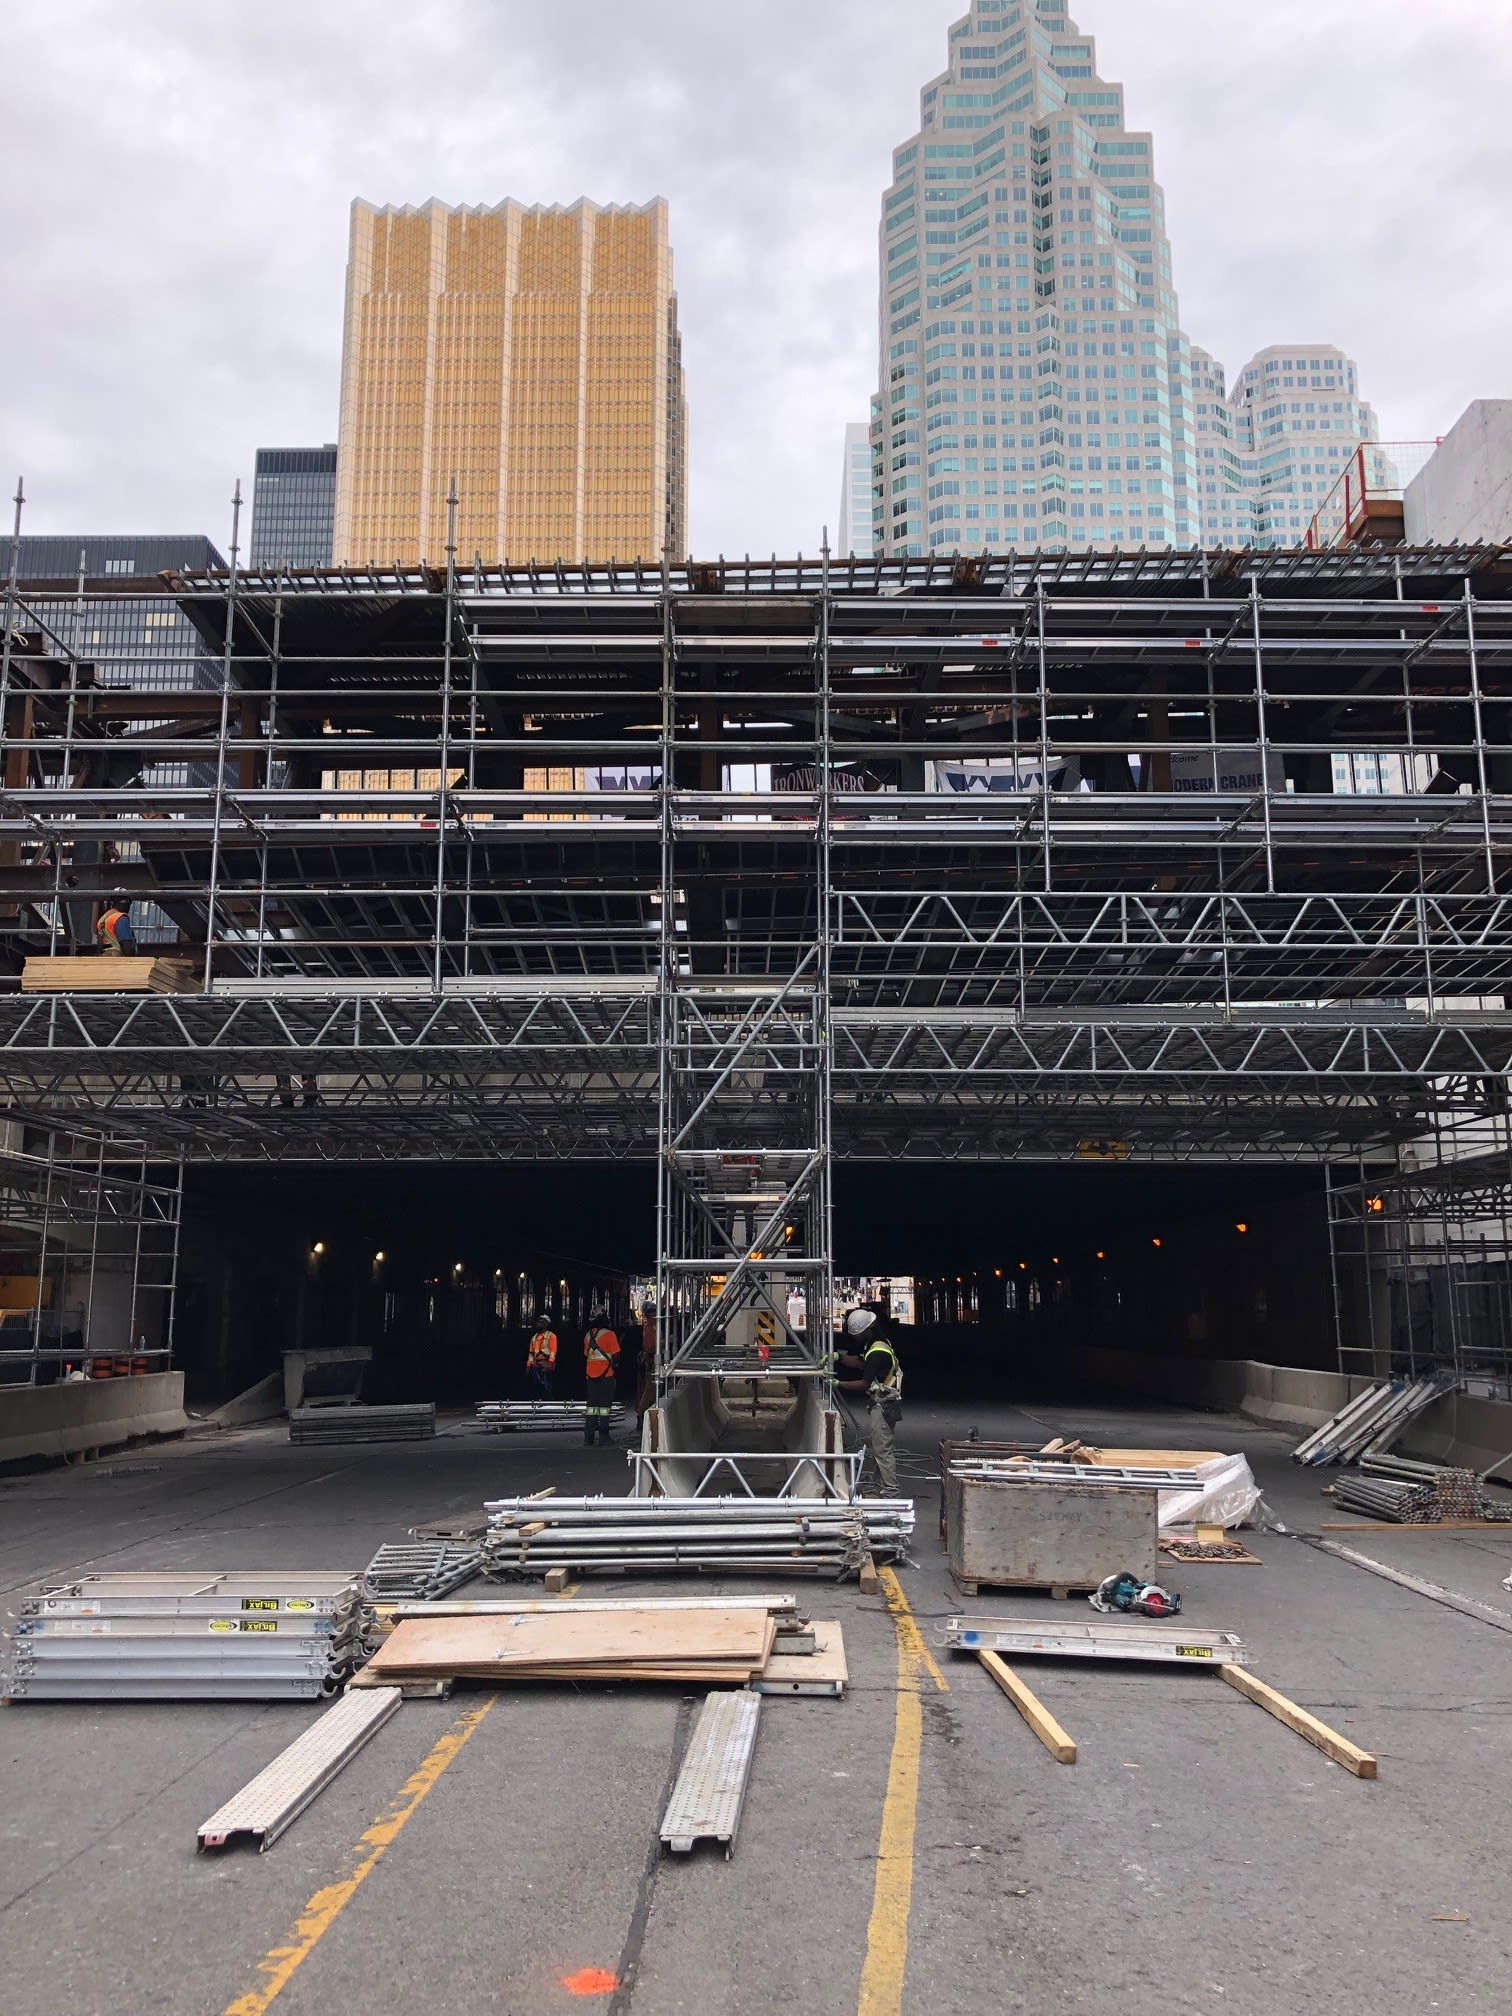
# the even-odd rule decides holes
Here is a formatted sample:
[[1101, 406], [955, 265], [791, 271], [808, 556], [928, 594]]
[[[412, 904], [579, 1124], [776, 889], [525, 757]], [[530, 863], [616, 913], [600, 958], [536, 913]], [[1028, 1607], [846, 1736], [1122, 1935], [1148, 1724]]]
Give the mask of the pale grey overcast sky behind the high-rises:
[[[816, 550], [877, 212], [964, 0], [4, 0], [0, 484], [230, 536], [335, 439], [347, 208], [665, 196], [700, 552]], [[1391, 439], [1512, 395], [1508, 0], [1073, 0], [1234, 373], [1339, 343]], [[6, 522], [8, 522], [6, 508]]]

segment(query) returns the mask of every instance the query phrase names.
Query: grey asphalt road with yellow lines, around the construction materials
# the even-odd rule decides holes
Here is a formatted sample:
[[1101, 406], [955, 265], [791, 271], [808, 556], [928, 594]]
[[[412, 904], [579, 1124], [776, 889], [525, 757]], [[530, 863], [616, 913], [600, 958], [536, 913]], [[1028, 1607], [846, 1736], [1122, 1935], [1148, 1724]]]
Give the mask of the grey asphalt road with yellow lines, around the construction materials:
[[[1022, 1613], [1034, 1601], [956, 1597], [933, 1538], [935, 1439], [1038, 1423], [1101, 1441], [1244, 1447], [1288, 1526], [1335, 1516], [1320, 1476], [1286, 1462], [1286, 1439], [1242, 1423], [1038, 1403], [1030, 1423], [1010, 1409], [917, 1407], [903, 1437], [917, 1564], [901, 1587], [925, 1639], [952, 1611]], [[0, 1480], [0, 1609], [85, 1564], [357, 1568], [415, 1520], [544, 1484], [615, 1490], [621, 1478], [615, 1454], [470, 1427], [387, 1450], [290, 1450], [252, 1431], [131, 1452]], [[500, 1693], [349, 1895], [337, 1887], [359, 1867], [365, 1831], [486, 1695], [405, 1704], [272, 1853], [220, 1859], [196, 1857], [198, 1824], [310, 1708], [16, 1704], [0, 1714], [0, 2008], [1506, 2016], [1512, 1633], [1298, 1538], [1254, 1544], [1260, 1568], [1173, 1570], [1185, 1615], [1244, 1633], [1260, 1677], [1373, 1750], [1379, 1782], [1329, 1764], [1214, 1673], [1036, 1665], [1032, 1685], [1081, 1746], [1064, 1768], [960, 1659], [943, 1669], [950, 1691], [927, 1677], [921, 1687], [911, 1895], [893, 1885], [881, 1923], [899, 1655], [883, 1603], [853, 1585], [794, 1585], [814, 1615], [845, 1623], [853, 1687], [845, 1702], [764, 1706], [732, 1863], [651, 1853], [689, 1720], [677, 1689]], [[1512, 1534], [1355, 1544], [1512, 1623], [1500, 1589]], [[893, 1820], [899, 1794], [909, 1804], [901, 1762]], [[325, 1929], [268, 1998], [300, 1921], [306, 1939]], [[581, 1970], [621, 1986], [573, 1994], [564, 1982]]]

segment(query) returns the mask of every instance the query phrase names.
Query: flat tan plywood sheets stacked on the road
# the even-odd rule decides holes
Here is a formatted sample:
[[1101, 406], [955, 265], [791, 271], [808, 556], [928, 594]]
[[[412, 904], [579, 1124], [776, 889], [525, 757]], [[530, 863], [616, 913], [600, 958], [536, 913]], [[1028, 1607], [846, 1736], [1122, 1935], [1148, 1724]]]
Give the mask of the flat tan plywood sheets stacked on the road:
[[409, 1617], [357, 1675], [361, 1687], [454, 1679], [643, 1679], [744, 1687], [776, 1647], [776, 1619], [718, 1605], [667, 1611], [524, 1611]]

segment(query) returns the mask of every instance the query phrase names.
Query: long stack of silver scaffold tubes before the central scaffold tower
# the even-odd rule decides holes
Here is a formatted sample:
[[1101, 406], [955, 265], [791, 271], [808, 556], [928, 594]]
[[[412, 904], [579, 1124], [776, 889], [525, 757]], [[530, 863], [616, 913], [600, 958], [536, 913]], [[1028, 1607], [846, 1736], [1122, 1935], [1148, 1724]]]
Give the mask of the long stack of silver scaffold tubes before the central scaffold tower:
[[857, 1574], [897, 1560], [911, 1498], [500, 1498], [488, 1506], [482, 1570], [506, 1577], [617, 1568]]

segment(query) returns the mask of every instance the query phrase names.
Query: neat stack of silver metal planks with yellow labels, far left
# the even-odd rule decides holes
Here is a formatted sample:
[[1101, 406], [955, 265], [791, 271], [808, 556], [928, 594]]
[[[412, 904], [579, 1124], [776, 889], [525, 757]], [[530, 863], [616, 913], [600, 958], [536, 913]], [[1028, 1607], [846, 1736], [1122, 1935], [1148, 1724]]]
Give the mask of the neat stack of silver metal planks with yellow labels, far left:
[[83, 1574], [22, 1601], [0, 1691], [14, 1702], [319, 1699], [373, 1643], [351, 1572]]

